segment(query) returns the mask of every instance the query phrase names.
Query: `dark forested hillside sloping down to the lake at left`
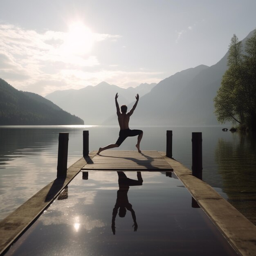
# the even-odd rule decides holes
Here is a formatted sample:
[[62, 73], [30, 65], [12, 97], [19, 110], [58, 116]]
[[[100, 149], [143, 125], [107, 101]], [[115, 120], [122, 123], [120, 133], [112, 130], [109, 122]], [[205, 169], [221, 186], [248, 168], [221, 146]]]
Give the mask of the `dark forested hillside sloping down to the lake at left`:
[[0, 79], [0, 125], [68, 124], [84, 122], [40, 95], [18, 91]]

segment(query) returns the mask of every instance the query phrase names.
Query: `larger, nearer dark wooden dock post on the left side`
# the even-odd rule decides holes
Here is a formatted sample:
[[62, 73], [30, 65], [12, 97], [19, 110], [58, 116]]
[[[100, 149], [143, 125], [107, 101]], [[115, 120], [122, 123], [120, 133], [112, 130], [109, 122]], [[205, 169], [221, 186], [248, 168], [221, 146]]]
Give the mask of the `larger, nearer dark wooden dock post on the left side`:
[[58, 135], [57, 178], [67, 176], [67, 148], [68, 132], [60, 132]]

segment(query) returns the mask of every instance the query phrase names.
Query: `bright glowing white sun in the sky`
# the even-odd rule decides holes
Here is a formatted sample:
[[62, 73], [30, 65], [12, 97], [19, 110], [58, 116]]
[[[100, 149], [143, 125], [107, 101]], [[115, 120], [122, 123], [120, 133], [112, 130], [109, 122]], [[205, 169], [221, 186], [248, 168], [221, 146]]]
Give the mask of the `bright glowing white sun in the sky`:
[[73, 22], [65, 34], [63, 51], [66, 54], [83, 55], [91, 51], [94, 45], [94, 34], [83, 22]]

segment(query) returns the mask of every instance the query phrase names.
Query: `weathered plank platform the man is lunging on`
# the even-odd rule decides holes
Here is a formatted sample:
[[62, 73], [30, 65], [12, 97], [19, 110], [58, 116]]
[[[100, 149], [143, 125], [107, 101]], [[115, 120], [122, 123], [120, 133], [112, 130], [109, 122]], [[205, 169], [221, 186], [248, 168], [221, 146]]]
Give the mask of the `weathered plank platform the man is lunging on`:
[[[96, 151], [95, 151], [96, 152]], [[92, 152], [94, 153], [94, 151]], [[83, 171], [172, 171], [157, 151], [105, 150], [82, 168]]]

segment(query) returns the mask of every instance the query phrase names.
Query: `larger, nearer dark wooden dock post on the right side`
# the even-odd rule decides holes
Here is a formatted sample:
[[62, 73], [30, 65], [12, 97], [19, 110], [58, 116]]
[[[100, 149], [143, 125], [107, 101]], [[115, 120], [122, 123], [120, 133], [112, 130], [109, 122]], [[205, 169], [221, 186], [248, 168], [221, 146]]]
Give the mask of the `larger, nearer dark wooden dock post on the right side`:
[[192, 175], [202, 180], [202, 132], [192, 132]]

